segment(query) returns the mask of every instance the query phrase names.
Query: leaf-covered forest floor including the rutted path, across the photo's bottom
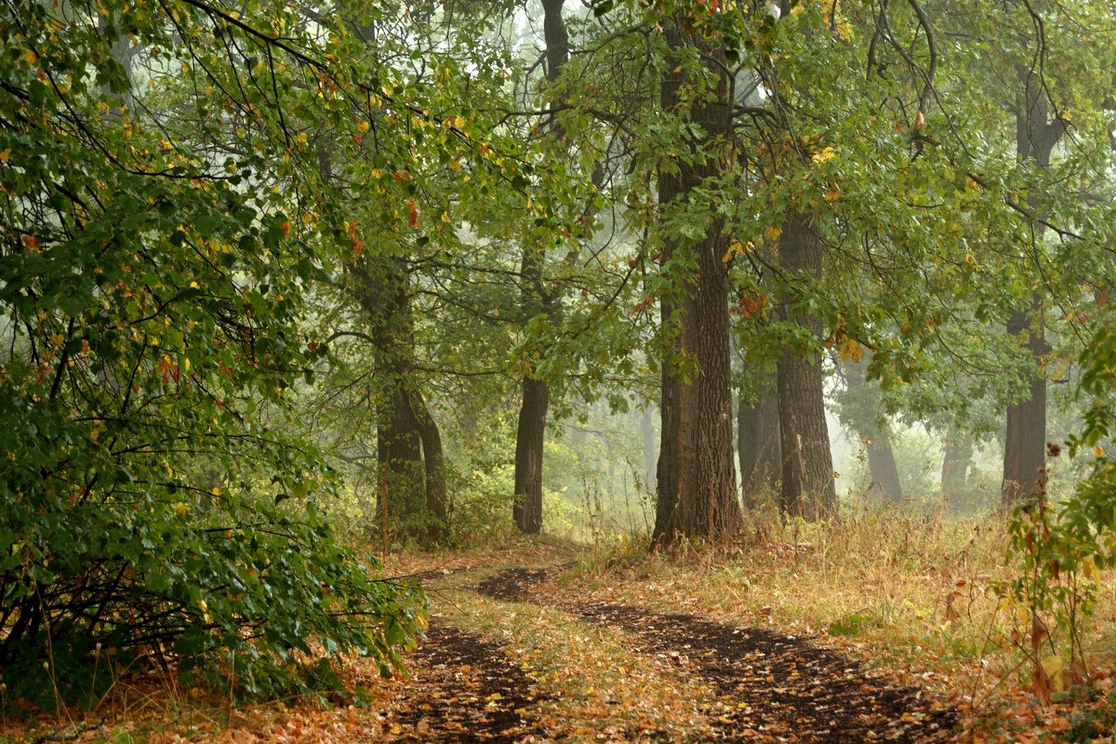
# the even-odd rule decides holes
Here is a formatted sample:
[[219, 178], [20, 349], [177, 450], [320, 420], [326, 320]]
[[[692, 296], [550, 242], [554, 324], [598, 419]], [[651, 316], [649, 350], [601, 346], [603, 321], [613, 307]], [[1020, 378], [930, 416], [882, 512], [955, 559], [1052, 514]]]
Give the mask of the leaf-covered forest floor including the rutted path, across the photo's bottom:
[[[822, 591], [802, 579], [817, 567], [780, 566], [760, 586], [742, 554], [648, 557], [542, 540], [396, 557], [391, 572], [430, 593], [429, 630], [405, 676], [349, 665], [366, 706], [232, 708], [152, 682], [124, 690], [123, 709], [42, 719], [21, 734], [6, 726], [0, 741], [1112, 741], [1107, 674], [1094, 674], [1096, 702], [1038, 707], [1009, 677], [1010, 658], [974, 651], [972, 634], [950, 622], [936, 636], [885, 627], [868, 599], [888, 590], [863, 571], [850, 599], [848, 577], [830, 574]], [[910, 607], [895, 603], [913, 622], [924, 598], [906, 596]], [[932, 611], [960, 617], [950, 596]], [[858, 612], [835, 609], [839, 601]]]

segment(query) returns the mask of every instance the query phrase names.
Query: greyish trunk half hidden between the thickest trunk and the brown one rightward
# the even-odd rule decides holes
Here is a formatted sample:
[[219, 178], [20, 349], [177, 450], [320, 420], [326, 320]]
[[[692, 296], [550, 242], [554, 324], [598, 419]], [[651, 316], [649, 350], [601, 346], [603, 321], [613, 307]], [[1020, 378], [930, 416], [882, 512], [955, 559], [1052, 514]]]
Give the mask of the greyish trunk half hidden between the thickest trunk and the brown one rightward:
[[[745, 371], [748, 371], [745, 369]], [[764, 489], [775, 487], [782, 475], [779, 441], [779, 390], [775, 375], [752, 370], [759, 397], [752, 405], [741, 398], [737, 408], [737, 447], [740, 456], [740, 487], [744, 504], [754, 508]]]

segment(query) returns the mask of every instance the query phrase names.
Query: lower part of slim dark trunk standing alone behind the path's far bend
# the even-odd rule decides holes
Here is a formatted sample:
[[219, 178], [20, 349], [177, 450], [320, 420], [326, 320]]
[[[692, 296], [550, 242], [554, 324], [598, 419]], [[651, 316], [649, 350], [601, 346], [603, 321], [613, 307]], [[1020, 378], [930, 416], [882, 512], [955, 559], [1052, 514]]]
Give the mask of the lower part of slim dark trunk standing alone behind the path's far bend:
[[526, 534], [542, 530], [542, 441], [550, 390], [542, 380], [523, 378], [523, 404], [516, 435], [516, 500], [512, 518]]

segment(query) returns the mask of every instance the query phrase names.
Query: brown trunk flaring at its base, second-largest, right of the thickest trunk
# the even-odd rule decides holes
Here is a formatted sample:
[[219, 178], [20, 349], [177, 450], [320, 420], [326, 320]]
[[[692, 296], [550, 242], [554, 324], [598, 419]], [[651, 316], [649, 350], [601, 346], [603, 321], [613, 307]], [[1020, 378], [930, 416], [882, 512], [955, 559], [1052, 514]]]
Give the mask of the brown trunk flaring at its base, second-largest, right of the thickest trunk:
[[[814, 279], [821, 277], [821, 241], [806, 220], [790, 215], [779, 240], [779, 260], [785, 271]], [[820, 336], [820, 321], [796, 311], [793, 298], [782, 298], [785, 317]], [[821, 356], [786, 349], [779, 359], [779, 428], [782, 442], [782, 487], [780, 506], [791, 516], [816, 521], [837, 509], [833, 455], [826, 425]]]

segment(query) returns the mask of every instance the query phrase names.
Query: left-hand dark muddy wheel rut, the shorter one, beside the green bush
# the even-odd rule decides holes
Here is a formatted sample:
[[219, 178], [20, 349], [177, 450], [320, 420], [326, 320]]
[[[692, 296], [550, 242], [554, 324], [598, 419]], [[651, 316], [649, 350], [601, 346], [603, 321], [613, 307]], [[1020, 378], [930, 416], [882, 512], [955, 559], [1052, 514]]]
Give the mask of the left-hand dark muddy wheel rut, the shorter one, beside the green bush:
[[396, 741], [521, 742], [541, 729], [521, 711], [535, 683], [499, 646], [451, 626], [431, 625], [407, 665], [406, 705], [393, 716]]

